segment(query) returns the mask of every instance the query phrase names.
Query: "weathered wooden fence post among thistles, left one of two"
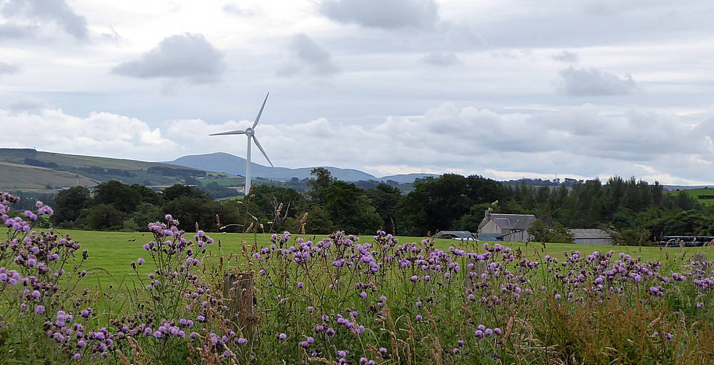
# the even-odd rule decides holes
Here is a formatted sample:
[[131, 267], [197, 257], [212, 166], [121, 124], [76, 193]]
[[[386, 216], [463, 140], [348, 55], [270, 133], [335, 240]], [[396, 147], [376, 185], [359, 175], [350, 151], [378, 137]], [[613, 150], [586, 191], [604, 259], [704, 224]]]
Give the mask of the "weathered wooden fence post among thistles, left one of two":
[[226, 318], [240, 329], [248, 341], [253, 340], [258, 317], [255, 313], [256, 289], [252, 273], [228, 273], [223, 281], [223, 298], [228, 302]]

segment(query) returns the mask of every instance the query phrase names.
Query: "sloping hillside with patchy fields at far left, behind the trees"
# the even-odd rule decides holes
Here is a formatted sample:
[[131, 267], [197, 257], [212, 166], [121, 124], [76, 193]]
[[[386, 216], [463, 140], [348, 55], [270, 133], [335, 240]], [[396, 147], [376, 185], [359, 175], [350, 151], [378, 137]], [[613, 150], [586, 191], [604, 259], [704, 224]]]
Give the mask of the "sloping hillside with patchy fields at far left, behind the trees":
[[206, 171], [129, 159], [55, 154], [34, 149], [0, 149], [0, 189], [38, 191], [94, 186], [103, 181], [166, 185], [191, 182]]

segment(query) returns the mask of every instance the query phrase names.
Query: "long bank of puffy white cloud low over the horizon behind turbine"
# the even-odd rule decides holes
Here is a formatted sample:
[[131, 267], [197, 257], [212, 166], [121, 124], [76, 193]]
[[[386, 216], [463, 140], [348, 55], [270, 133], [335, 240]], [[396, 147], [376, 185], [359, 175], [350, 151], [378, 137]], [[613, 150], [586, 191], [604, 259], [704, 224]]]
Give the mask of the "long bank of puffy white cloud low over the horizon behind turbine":
[[[643, 129], [645, 123], [650, 128]], [[702, 170], [703, 163], [714, 161], [707, 143], [714, 131], [706, 119], [693, 129], [680, 127], [689, 123], [654, 112], [603, 116], [592, 106], [499, 114], [445, 103], [420, 118], [388, 117], [376, 126], [324, 118], [286, 125], [263, 121], [256, 135], [276, 166], [339, 166], [376, 174], [451, 171], [498, 179], [619, 174], [665, 184], [714, 181], [714, 173]], [[167, 161], [215, 151], [244, 156], [244, 136], [208, 134], [244, 129], [251, 121], [178, 119], [151, 128], [129, 116], [98, 112], [78, 118], [44, 109], [2, 111], [0, 125], [16, 136], [16, 147]]]

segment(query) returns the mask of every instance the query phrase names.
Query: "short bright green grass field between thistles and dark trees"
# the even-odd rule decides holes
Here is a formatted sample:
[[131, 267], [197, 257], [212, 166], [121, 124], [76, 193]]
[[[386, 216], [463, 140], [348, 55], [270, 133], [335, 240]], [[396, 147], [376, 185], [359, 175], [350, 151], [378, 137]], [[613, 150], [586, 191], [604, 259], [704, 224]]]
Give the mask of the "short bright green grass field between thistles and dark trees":
[[[69, 234], [76, 241], [79, 241], [82, 249], [89, 250], [89, 259], [86, 262], [84, 269], [90, 271], [90, 275], [84, 279], [84, 286], [101, 286], [106, 289], [109, 286], [121, 286], [123, 281], [134, 278], [134, 271], [131, 269], [131, 263], [136, 262], [139, 257], [146, 259], [144, 266], [151, 266], [150, 258], [146, 256], [146, 251], [142, 248], [144, 244], [151, 241], [153, 236], [149, 233], [142, 232], [100, 232], [100, 231], [73, 231], [60, 230], [61, 234]], [[218, 256], [229, 256], [231, 254], [241, 254], [241, 247], [246, 245], [257, 245], [258, 247], [266, 246], [270, 241], [270, 234], [208, 234], [216, 240], [216, 244], [211, 246], [211, 262], [216, 263]], [[188, 237], [193, 237], [193, 234], [186, 234]], [[299, 235], [303, 239], [320, 240], [324, 236], [315, 235]], [[293, 238], [297, 238], [294, 235]], [[371, 236], [363, 236], [362, 241], [371, 241]], [[398, 237], [400, 244], [409, 242], [418, 242], [422, 238], [419, 237]], [[575, 244], [545, 244], [545, 249], [540, 243], [525, 244], [523, 242], [503, 242], [504, 246], [510, 246], [511, 249], [521, 249], [523, 255], [535, 259], [539, 256], [558, 256], [562, 257], [564, 251], [580, 251], [583, 254], [590, 254], [593, 251], [610, 251], [625, 252], [634, 257], [641, 256], [646, 261], [668, 261], [673, 260], [675, 256], [684, 254], [690, 257], [695, 253], [705, 253], [710, 258], [714, 257], [714, 247], [706, 248], [668, 248], [660, 249], [659, 247], [636, 247], [636, 246], [590, 246], [590, 245], [575, 245]], [[448, 250], [450, 246], [457, 246], [467, 251], [480, 250], [483, 242], [464, 243], [453, 239], [437, 239], [436, 246], [442, 250]], [[142, 268], [142, 272], [146, 272], [147, 267]]]

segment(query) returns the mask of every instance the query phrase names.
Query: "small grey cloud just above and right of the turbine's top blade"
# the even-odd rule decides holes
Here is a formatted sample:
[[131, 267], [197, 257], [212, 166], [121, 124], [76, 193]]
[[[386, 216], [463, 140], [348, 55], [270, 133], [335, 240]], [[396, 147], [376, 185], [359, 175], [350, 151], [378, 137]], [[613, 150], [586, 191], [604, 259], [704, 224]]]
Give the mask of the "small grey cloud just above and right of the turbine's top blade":
[[295, 61], [278, 71], [279, 76], [293, 76], [302, 72], [312, 76], [330, 76], [340, 71], [333, 63], [330, 52], [306, 34], [295, 34], [288, 49]]

